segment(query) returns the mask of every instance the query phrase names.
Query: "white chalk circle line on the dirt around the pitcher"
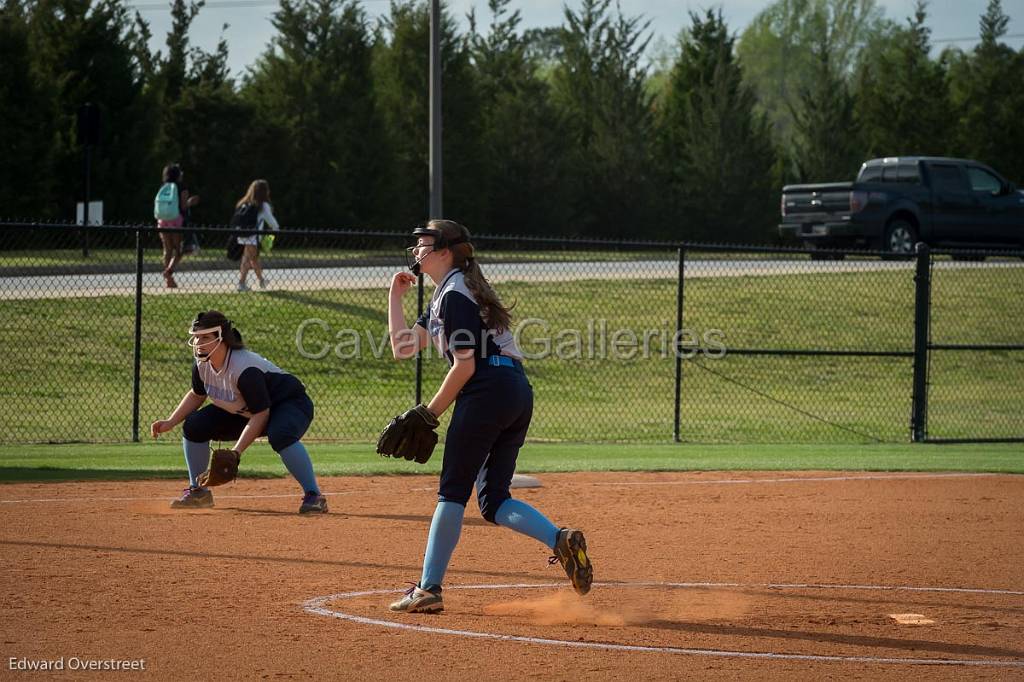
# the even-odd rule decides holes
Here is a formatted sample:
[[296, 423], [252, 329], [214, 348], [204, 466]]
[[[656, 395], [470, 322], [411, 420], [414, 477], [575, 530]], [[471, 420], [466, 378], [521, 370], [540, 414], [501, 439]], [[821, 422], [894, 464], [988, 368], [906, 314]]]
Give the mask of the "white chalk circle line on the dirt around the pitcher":
[[[445, 590], [537, 590], [564, 588], [564, 583], [520, 583], [511, 585], [453, 585], [445, 587]], [[909, 587], [909, 586], [886, 586], [886, 585], [815, 585], [815, 584], [743, 584], [743, 583], [594, 583], [594, 587], [602, 588], [652, 588], [663, 587], [670, 589], [708, 589], [708, 588], [769, 588], [775, 590], [877, 590], [877, 591], [905, 591], [905, 592], [953, 592], [971, 594], [999, 594], [1022, 596], [1024, 591], [1019, 590], [995, 590], [983, 588], [937, 588], [937, 587]], [[402, 589], [383, 590], [360, 590], [358, 592], [340, 592], [338, 594], [313, 597], [306, 601], [302, 607], [308, 613], [316, 615], [327, 615], [330, 617], [350, 621], [362, 625], [379, 626], [382, 628], [393, 628], [396, 630], [412, 630], [425, 632], [434, 635], [454, 635], [457, 637], [471, 637], [474, 639], [496, 639], [505, 642], [524, 642], [527, 644], [542, 644], [547, 646], [566, 646], [577, 649], [603, 649], [606, 651], [636, 651], [646, 653], [675, 653], [694, 656], [714, 656], [719, 658], [748, 658], [748, 659], [771, 659], [771, 660], [808, 660], [827, 663], [865, 663], [883, 665], [912, 665], [912, 666], [969, 666], [969, 667], [993, 667], [993, 668], [1024, 668], [1024, 659], [1010, 660], [987, 660], [984, 658], [899, 658], [883, 656], [839, 656], [822, 655], [812, 653], [777, 653], [774, 651], [732, 651], [728, 649], [694, 649], [678, 646], [641, 646], [637, 644], [614, 644], [609, 642], [581, 642], [578, 640], [549, 639], [545, 637], [523, 637], [520, 635], [507, 635], [502, 633], [479, 632], [474, 630], [455, 630], [452, 628], [434, 628], [431, 626], [415, 625], [412, 623], [398, 623], [395, 621], [382, 621], [380, 619], [370, 619], [353, 613], [334, 610], [327, 607], [327, 604], [341, 599], [355, 599], [357, 597], [369, 597], [374, 595], [395, 594], [404, 592]]]

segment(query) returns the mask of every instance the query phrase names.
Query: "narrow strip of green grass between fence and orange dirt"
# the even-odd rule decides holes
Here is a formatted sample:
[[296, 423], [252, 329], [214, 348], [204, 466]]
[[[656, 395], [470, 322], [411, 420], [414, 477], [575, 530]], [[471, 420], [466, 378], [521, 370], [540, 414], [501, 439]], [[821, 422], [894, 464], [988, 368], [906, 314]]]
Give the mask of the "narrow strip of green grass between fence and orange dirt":
[[[137, 444], [0, 446], [0, 482], [134, 480], [185, 477], [173, 437]], [[312, 443], [322, 476], [436, 474], [440, 453], [426, 465], [377, 456], [369, 444]], [[1020, 445], [651, 445], [527, 443], [520, 473], [559, 471], [974, 471], [1024, 473]], [[258, 442], [243, 458], [245, 477], [287, 476], [280, 458]]]

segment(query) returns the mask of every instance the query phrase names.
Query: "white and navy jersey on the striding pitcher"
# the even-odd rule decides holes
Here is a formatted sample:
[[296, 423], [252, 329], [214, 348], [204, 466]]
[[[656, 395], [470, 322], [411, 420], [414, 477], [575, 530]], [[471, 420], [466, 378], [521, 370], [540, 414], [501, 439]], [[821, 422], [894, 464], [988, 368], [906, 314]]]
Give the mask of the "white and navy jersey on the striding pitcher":
[[486, 329], [480, 306], [466, 286], [462, 270], [454, 269], [444, 275], [430, 298], [430, 305], [416, 324], [430, 333], [437, 350], [450, 365], [454, 363], [452, 351], [466, 348], [475, 348], [478, 359], [495, 355], [522, 359], [512, 332]]

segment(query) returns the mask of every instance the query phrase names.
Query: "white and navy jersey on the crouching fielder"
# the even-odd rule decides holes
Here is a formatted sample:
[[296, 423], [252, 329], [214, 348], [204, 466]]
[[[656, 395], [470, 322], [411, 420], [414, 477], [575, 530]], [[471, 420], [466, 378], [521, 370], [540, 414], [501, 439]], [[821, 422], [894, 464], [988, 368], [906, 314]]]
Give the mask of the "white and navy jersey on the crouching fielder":
[[245, 348], [229, 351], [220, 372], [209, 363], [194, 364], [193, 391], [208, 396], [221, 410], [243, 417], [306, 394], [301, 381]]

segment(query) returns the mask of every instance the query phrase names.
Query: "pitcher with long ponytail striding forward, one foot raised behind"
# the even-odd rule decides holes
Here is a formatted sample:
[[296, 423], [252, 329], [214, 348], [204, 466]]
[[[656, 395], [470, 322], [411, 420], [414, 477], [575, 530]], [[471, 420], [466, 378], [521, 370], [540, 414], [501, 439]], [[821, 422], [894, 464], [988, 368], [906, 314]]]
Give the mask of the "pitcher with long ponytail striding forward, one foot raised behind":
[[398, 359], [413, 357], [433, 339], [451, 367], [426, 409], [439, 417], [455, 402], [455, 411], [445, 437], [423, 573], [402, 599], [391, 604], [391, 610], [443, 610], [441, 583], [474, 483], [483, 518], [551, 548], [573, 589], [586, 594], [593, 566], [583, 532], [559, 528], [509, 493], [534, 414], [534, 391], [509, 331], [509, 310], [483, 278], [464, 226], [431, 220], [413, 235], [417, 238], [411, 249], [413, 273], [426, 273], [437, 288], [429, 309], [410, 330], [401, 297], [416, 278], [409, 272], [392, 278], [388, 299], [391, 348]]

